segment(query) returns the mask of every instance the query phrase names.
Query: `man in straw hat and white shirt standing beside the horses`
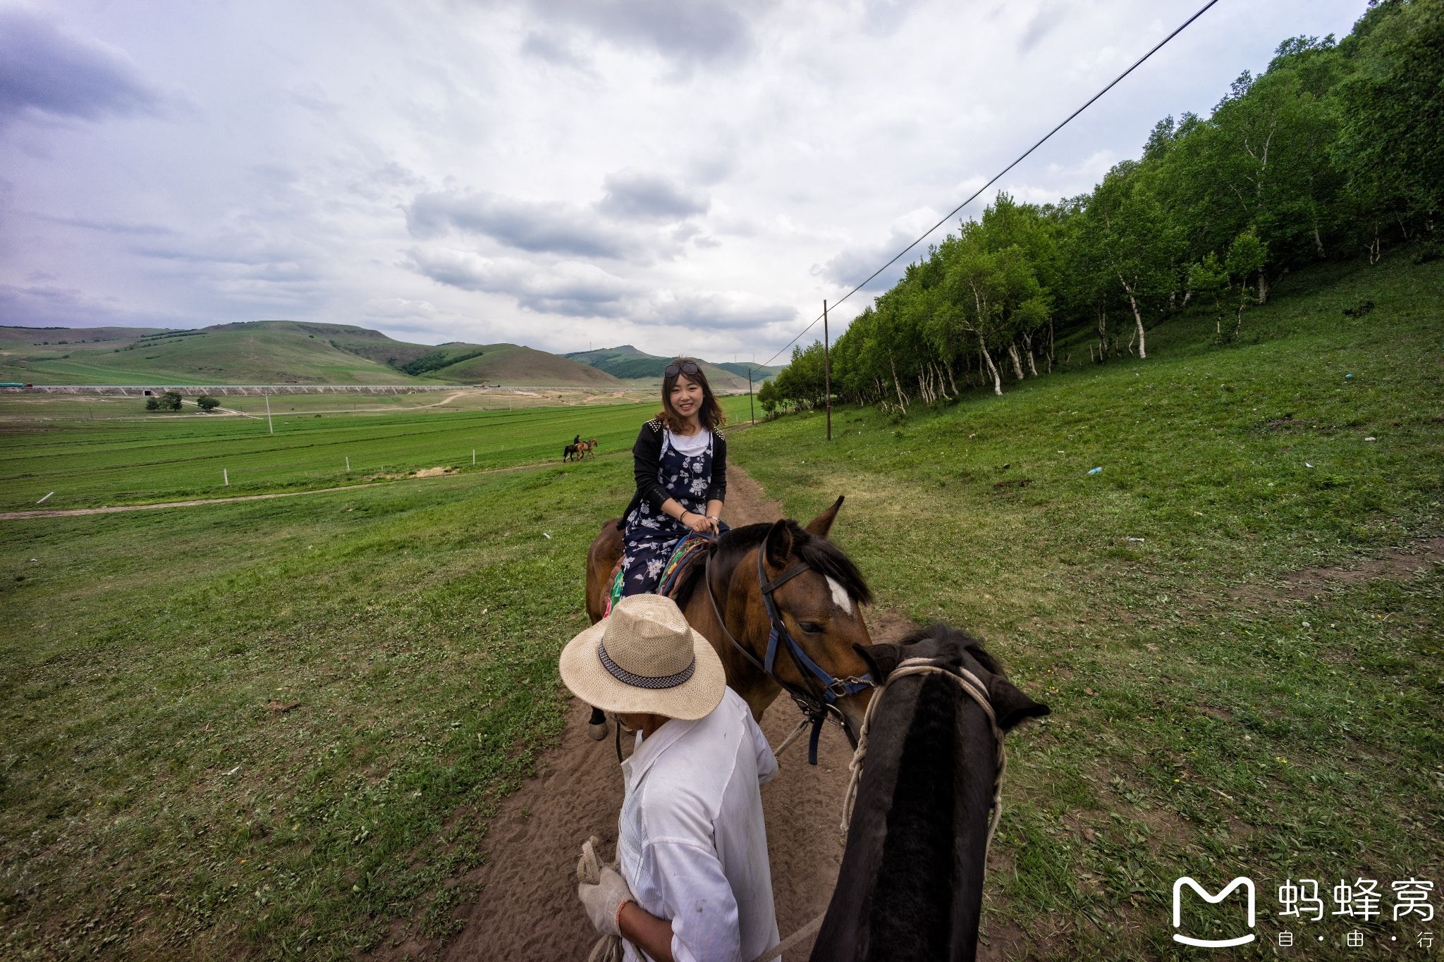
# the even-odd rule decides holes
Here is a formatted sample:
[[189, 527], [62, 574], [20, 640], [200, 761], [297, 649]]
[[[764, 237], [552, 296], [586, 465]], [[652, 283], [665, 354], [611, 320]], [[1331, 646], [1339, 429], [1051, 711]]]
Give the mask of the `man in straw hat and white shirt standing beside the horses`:
[[[562, 681], [637, 733], [622, 762], [621, 871], [578, 894], [624, 958], [754, 959], [777, 945], [758, 787], [777, 759], [712, 645], [671, 599], [635, 594], [567, 643]], [[638, 955], [638, 948], [647, 955]]]

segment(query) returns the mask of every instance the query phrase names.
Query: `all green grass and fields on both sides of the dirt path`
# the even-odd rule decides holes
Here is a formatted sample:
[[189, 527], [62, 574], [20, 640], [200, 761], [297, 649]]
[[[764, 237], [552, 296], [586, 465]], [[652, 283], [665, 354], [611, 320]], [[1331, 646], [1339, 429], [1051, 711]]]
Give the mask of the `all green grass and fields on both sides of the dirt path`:
[[[1417, 560], [1444, 535], [1434, 268], [1288, 278], [1240, 345], [1186, 316], [1147, 362], [838, 411], [830, 446], [820, 414], [731, 437], [796, 516], [848, 495], [836, 537], [881, 604], [983, 636], [1051, 704], [1009, 740], [983, 920], [1006, 958], [1171, 958], [1184, 873], [1258, 883], [1236, 958], [1266, 953], [1284, 878], [1444, 883], [1444, 571]], [[7, 508], [326, 486], [348, 451], [357, 479], [465, 470], [0, 522], [0, 956], [452, 930], [488, 813], [560, 724], [582, 558], [650, 410], [505, 414], [6, 421]], [[465, 463], [576, 431], [605, 456]], [[1344, 952], [1343, 920], [1310, 925], [1307, 958]]]

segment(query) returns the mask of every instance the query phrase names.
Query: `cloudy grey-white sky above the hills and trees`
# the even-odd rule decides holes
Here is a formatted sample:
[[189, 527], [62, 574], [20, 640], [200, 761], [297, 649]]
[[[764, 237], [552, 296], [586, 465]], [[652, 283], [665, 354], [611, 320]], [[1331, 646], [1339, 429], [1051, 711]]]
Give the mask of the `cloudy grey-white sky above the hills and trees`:
[[[0, 323], [761, 362], [1201, 1], [0, 0]], [[999, 186], [1363, 9], [1222, 0]]]

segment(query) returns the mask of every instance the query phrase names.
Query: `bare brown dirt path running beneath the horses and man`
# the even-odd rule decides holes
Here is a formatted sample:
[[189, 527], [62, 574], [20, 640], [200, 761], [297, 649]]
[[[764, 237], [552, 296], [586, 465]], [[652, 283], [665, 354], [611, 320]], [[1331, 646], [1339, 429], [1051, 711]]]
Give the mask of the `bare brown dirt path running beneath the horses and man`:
[[[781, 505], [767, 500], [751, 477], [729, 469], [729, 524], [771, 521], [781, 513]], [[846, 509], [839, 525], [846, 528]], [[892, 640], [911, 629], [887, 610], [871, 612], [868, 622], [875, 640]], [[572, 704], [562, 744], [540, 759], [537, 776], [492, 819], [484, 841], [487, 864], [469, 880], [481, 886], [481, 894], [462, 932], [445, 945], [386, 945], [378, 958], [586, 958], [596, 936], [576, 901], [576, 855], [588, 835], [599, 835], [611, 851], [622, 798], [612, 741], [586, 736], [586, 714], [585, 705]], [[796, 708], [780, 700], [768, 710], [762, 730], [780, 744], [797, 718]], [[810, 767], [803, 741], [787, 749], [781, 772], [762, 789], [777, 925], [784, 936], [827, 907], [842, 862], [838, 821], [852, 751], [842, 733], [829, 727], [817, 767]], [[788, 958], [806, 958], [810, 949], [810, 943], [803, 945]]]

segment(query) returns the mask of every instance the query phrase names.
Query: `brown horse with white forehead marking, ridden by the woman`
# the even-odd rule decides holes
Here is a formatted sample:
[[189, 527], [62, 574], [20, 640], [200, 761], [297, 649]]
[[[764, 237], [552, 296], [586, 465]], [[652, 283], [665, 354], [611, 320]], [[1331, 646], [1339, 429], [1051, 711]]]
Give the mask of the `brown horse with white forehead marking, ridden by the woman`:
[[[839, 508], [842, 498], [806, 526], [784, 519], [718, 535], [705, 562], [693, 564], [676, 591], [687, 622], [712, 642], [726, 684], [747, 700], [752, 717], [761, 720], [786, 689], [816, 721], [813, 747], [822, 720], [840, 724], [856, 744], [872, 695], [868, 663], [858, 653], [872, 643], [861, 609], [872, 593], [848, 555], [827, 541]], [[621, 531], [608, 521], [586, 555], [586, 613], [593, 625], [606, 610], [621, 554]], [[605, 736], [605, 727], [598, 734], [599, 721], [593, 712], [593, 737]]]

